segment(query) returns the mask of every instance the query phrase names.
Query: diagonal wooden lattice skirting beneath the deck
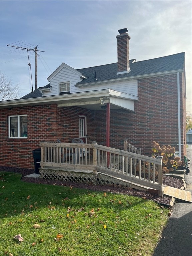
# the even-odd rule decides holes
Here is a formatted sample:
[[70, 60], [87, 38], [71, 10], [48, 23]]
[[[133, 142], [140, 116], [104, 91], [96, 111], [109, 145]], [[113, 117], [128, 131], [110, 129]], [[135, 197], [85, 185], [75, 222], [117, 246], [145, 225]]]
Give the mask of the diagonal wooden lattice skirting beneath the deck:
[[121, 185], [124, 187], [132, 187], [132, 184], [111, 176], [96, 172], [84, 173], [75, 171], [61, 171], [39, 168], [39, 177], [41, 179], [71, 181], [77, 183], [85, 183], [91, 185]]

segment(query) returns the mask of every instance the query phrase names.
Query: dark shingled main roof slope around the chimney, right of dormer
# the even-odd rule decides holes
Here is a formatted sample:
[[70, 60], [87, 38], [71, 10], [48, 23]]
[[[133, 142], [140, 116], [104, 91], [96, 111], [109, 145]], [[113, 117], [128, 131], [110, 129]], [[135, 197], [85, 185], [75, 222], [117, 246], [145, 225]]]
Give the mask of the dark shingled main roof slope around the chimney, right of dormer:
[[83, 79], [77, 85], [92, 83], [94, 81], [95, 71], [97, 80], [94, 82], [97, 83], [100, 81], [107, 81], [118, 78], [131, 78], [142, 75], [181, 70], [184, 67], [184, 57], [185, 53], [181, 52], [169, 56], [138, 62], [133, 59], [129, 61], [130, 72], [120, 75], [117, 75], [117, 63], [77, 69], [77, 71], [88, 77], [87, 79]]

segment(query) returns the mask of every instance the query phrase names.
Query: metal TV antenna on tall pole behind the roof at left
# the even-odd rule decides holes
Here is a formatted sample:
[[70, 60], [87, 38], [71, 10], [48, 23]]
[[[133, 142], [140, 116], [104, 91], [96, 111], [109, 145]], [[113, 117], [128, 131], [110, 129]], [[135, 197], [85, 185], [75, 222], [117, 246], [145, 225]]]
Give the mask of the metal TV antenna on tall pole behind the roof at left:
[[[15, 43], [18, 43], [17, 46], [16, 45], [9, 45], [9, 44], [7, 46], [15, 47], [18, 50], [25, 50], [25, 51], [27, 51], [27, 53], [28, 53], [28, 51], [35, 52], [35, 90], [36, 90], [37, 89], [37, 55], [38, 55], [37, 52], [44, 52], [44, 51], [37, 50], [38, 45], [35, 46], [34, 48], [28, 48], [29, 46], [32, 46], [32, 44], [21, 45], [22, 43], [25, 43], [25, 42], [21, 42], [21, 43], [19, 43], [19, 42], [21, 42], [21, 41], [15, 42]], [[13, 43], [13, 44], [15, 44], [15, 43]], [[21, 47], [21, 46], [23, 46], [23, 47]], [[28, 60], [29, 60], [29, 55], [28, 55]], [[31, 66], [30, 63], [28, 65]], [[31, 80], [32, 80], [32, 75], [31, 75]], [[32, 92], [33, 92], [33, 83], [32, 83]]]

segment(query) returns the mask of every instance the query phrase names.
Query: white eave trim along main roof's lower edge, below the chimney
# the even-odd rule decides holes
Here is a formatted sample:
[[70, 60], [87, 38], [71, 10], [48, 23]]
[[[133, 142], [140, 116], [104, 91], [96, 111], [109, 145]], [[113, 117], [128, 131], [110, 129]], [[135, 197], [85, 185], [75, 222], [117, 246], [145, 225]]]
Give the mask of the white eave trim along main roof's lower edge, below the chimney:
[[110, 79], [110, 80], [104, 80], [104, 81], [98, 81], [98, 82], [92, 82], [92, 83], [77, 83], [75, 87], [86, 87], [90, 85], [97, 85], [97, 84], [108, 84], [112, 82], [118, 82], [118, 81], [125, 81], [125, 80], [135, 80], [135, 79], [141, 79], [141, 78], [146, 78], [146, 77], [156, 77], [156, 76], [164, 76], [164, 75], [169, 75], [169, 74], [174, 74], [174, 73], [182, 73], [184, 69], [178, 69], [178, 70], [171, 70], [171, 71], [165, 71], [165, 72], [157, 72], [157, 73], [151, 73], [151, 74], [145, 74], [145, 75], [139, 75], [139, 76], [130, 76], [130, 77], [122, 77], [122, 78], [116, 78], [116, 79]]

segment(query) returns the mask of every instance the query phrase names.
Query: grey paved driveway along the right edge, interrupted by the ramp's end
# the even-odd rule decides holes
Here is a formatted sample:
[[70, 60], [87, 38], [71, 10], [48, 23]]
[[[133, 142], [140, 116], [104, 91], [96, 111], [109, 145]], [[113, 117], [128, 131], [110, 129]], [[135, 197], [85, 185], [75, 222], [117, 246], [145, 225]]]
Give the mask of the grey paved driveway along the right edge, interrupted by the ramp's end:
[[[187, 157], [192, 163], [192, 147], [187, 148]], [[185, 175], [186, 190], [192, 192], [192, 164]], [[167, 227], [153, 256], [192, 256], [192, 204], [176, 202], [172, 208]]]

